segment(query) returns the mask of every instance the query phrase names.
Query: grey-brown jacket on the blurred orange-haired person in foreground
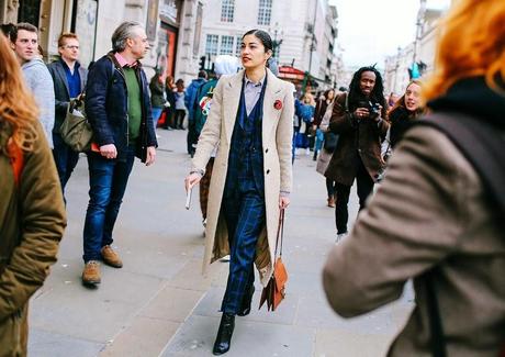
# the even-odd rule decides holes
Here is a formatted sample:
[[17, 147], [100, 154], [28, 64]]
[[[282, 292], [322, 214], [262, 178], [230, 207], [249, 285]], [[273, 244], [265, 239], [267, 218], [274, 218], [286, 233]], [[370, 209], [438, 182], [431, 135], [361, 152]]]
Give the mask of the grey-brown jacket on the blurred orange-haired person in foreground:
[[439, 131], [415, 127], [388, 175], [329, 254], [324, 287], [333, 309], [355, 316], [400, 298], [414, 279], [416, 308], [389, 356], [431, 356], [426, 285], [434, 288], [448, 356], [495, 357], [505, 343], [505, 239], [470, 163]]

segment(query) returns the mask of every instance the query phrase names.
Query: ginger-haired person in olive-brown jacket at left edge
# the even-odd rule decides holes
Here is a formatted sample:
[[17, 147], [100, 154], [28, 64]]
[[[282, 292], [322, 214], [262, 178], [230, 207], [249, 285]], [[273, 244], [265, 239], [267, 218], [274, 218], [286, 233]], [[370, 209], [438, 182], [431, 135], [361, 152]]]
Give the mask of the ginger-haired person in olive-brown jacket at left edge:
[[36, 102], [1, 33], [0, 64], [0, 355], [26, 356], [29, 300], [67, 223]]

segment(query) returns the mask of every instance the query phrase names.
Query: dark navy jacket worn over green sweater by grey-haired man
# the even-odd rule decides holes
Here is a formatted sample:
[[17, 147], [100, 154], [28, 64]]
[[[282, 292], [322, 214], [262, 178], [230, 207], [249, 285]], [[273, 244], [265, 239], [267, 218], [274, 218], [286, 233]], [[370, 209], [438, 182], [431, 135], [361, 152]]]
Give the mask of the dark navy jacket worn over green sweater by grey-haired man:
[[[141, 135], [137, 140], [137, 157], [143, 160], [148, 146], [157, 146], [147, 79], [141, 64], [136, 75], [142, 92]], [[93, 129], [93, 141], [103, 146], [114, 144], [117, 159], [125, 158], [128, 146], [128, 93], [123, 69], [114, 54], [109, 53], [93, 65], [86, 87], [86, 114]]]

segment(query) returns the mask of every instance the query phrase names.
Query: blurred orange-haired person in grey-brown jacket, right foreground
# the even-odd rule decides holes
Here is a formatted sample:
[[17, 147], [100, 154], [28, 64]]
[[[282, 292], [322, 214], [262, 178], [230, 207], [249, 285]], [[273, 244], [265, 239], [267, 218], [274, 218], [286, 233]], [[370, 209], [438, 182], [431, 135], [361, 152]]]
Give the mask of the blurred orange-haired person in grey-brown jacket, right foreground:
[[[381, 189], [323, 274], [346, 317], [399, 299], [414, 280], [416, 306], [388, 356], [505, 353], [505, 161], [490, 149], [505, 147], [505, 2], [452, 7], [440, 22], [437, 71], [424, 83], [431, 114], [397, 144]], [[448, 122], [452, 131], [440, 130]]]

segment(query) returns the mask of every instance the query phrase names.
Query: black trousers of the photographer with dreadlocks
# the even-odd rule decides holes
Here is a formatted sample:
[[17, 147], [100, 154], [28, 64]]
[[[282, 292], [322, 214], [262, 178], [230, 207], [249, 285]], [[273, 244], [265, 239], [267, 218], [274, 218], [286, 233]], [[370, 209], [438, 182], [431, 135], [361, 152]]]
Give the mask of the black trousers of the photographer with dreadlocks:
[[[367, 198], [373, 191], [373, 180], [367, 171], [363, 161], [358, 156], [356, 159], [357, 172], [356, 182], [358, 185], [359, 210], [364, 208]], [[351, 186], [338, 183], [336, 185], [337, 202], [335, 204], [335, 223], [337, 225], [337, 234], [347, 232], [347, 221], [349, 220], [349, 212], [347, 205], [349, 203]]]

